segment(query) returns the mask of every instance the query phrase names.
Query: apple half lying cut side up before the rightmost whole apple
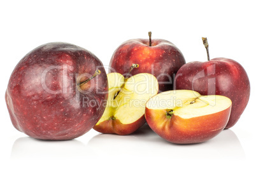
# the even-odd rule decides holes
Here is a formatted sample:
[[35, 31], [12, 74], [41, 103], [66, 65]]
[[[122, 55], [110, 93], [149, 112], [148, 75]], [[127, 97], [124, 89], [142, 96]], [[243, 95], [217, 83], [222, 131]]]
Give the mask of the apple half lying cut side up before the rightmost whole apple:
[[229, 121], [232, 101], [192, 90], [165, 91], [146, 103], [150, 128], [172, 143], [201, 143], [220, 133]]

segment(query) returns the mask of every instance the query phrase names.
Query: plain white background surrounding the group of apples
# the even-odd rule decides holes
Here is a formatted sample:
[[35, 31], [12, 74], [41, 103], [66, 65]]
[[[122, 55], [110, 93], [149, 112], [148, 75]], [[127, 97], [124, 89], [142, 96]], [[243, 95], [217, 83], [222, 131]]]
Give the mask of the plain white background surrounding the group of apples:
[[[0, 169], [255, 168], [255, 4], [253, 1], [1, 1]], [[196, 145], [174, 145], [143, 127], [129, 136], [94, 130], [71, 141], [38, 141], [13, 128], [4, 93], [18, 61], [46, 42], [71, 42], [104, 65], [133, 38], [173, 42], [186, 62], [232, 58], [243, 65], [251, 96], [238, 123]], [[4, 168], [3, 168], [4, 167]], [[248, 168], [247, 168], [248, 169]]]

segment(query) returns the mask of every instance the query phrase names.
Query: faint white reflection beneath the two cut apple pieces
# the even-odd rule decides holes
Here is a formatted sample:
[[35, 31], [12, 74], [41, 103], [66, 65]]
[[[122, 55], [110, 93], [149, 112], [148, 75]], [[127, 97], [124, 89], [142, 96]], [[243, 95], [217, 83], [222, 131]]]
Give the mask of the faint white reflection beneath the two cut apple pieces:
[[231, 129], [226, 129], [215, 138], [204, 143], [178, 145], [170, 143], [155, 134], [148, 125], [127, 136], [117, 134], [97, 134], [88, 143], [96, 155], [117, 157], [134, 155], [141, 157], [170, 157], [175, 159], [225, 159], [245, 158], [243, 147]]

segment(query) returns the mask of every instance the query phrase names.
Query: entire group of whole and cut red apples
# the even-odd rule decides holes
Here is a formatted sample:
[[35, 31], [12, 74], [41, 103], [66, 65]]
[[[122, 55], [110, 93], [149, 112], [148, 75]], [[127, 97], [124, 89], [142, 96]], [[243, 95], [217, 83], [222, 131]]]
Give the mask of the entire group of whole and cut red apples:
[[163, 39], [131, 39], [110, 61], [109, 74], [90, 51], [43, 44], [20, 60], [6, 90], [13, 126], [32, 138], [71, 140], [94, 128], [131, 134], [145, 122], [172, 143], [200, 143], [234, 126], [250, 82], [234, 60], [185, 63]]

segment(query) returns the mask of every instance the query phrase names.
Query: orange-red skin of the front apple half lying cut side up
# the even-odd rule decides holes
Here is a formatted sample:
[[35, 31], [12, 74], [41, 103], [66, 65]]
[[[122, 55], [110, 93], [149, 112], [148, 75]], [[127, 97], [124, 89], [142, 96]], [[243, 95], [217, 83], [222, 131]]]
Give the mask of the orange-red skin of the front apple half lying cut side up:
[[201, 143], [217, 136], [229, 121], [231, 107], [215, 114], [183, 119], [173, 115], [167, 119], [166, 110], [146, 107], [145, 117], [150, 128], [171, 143]]

